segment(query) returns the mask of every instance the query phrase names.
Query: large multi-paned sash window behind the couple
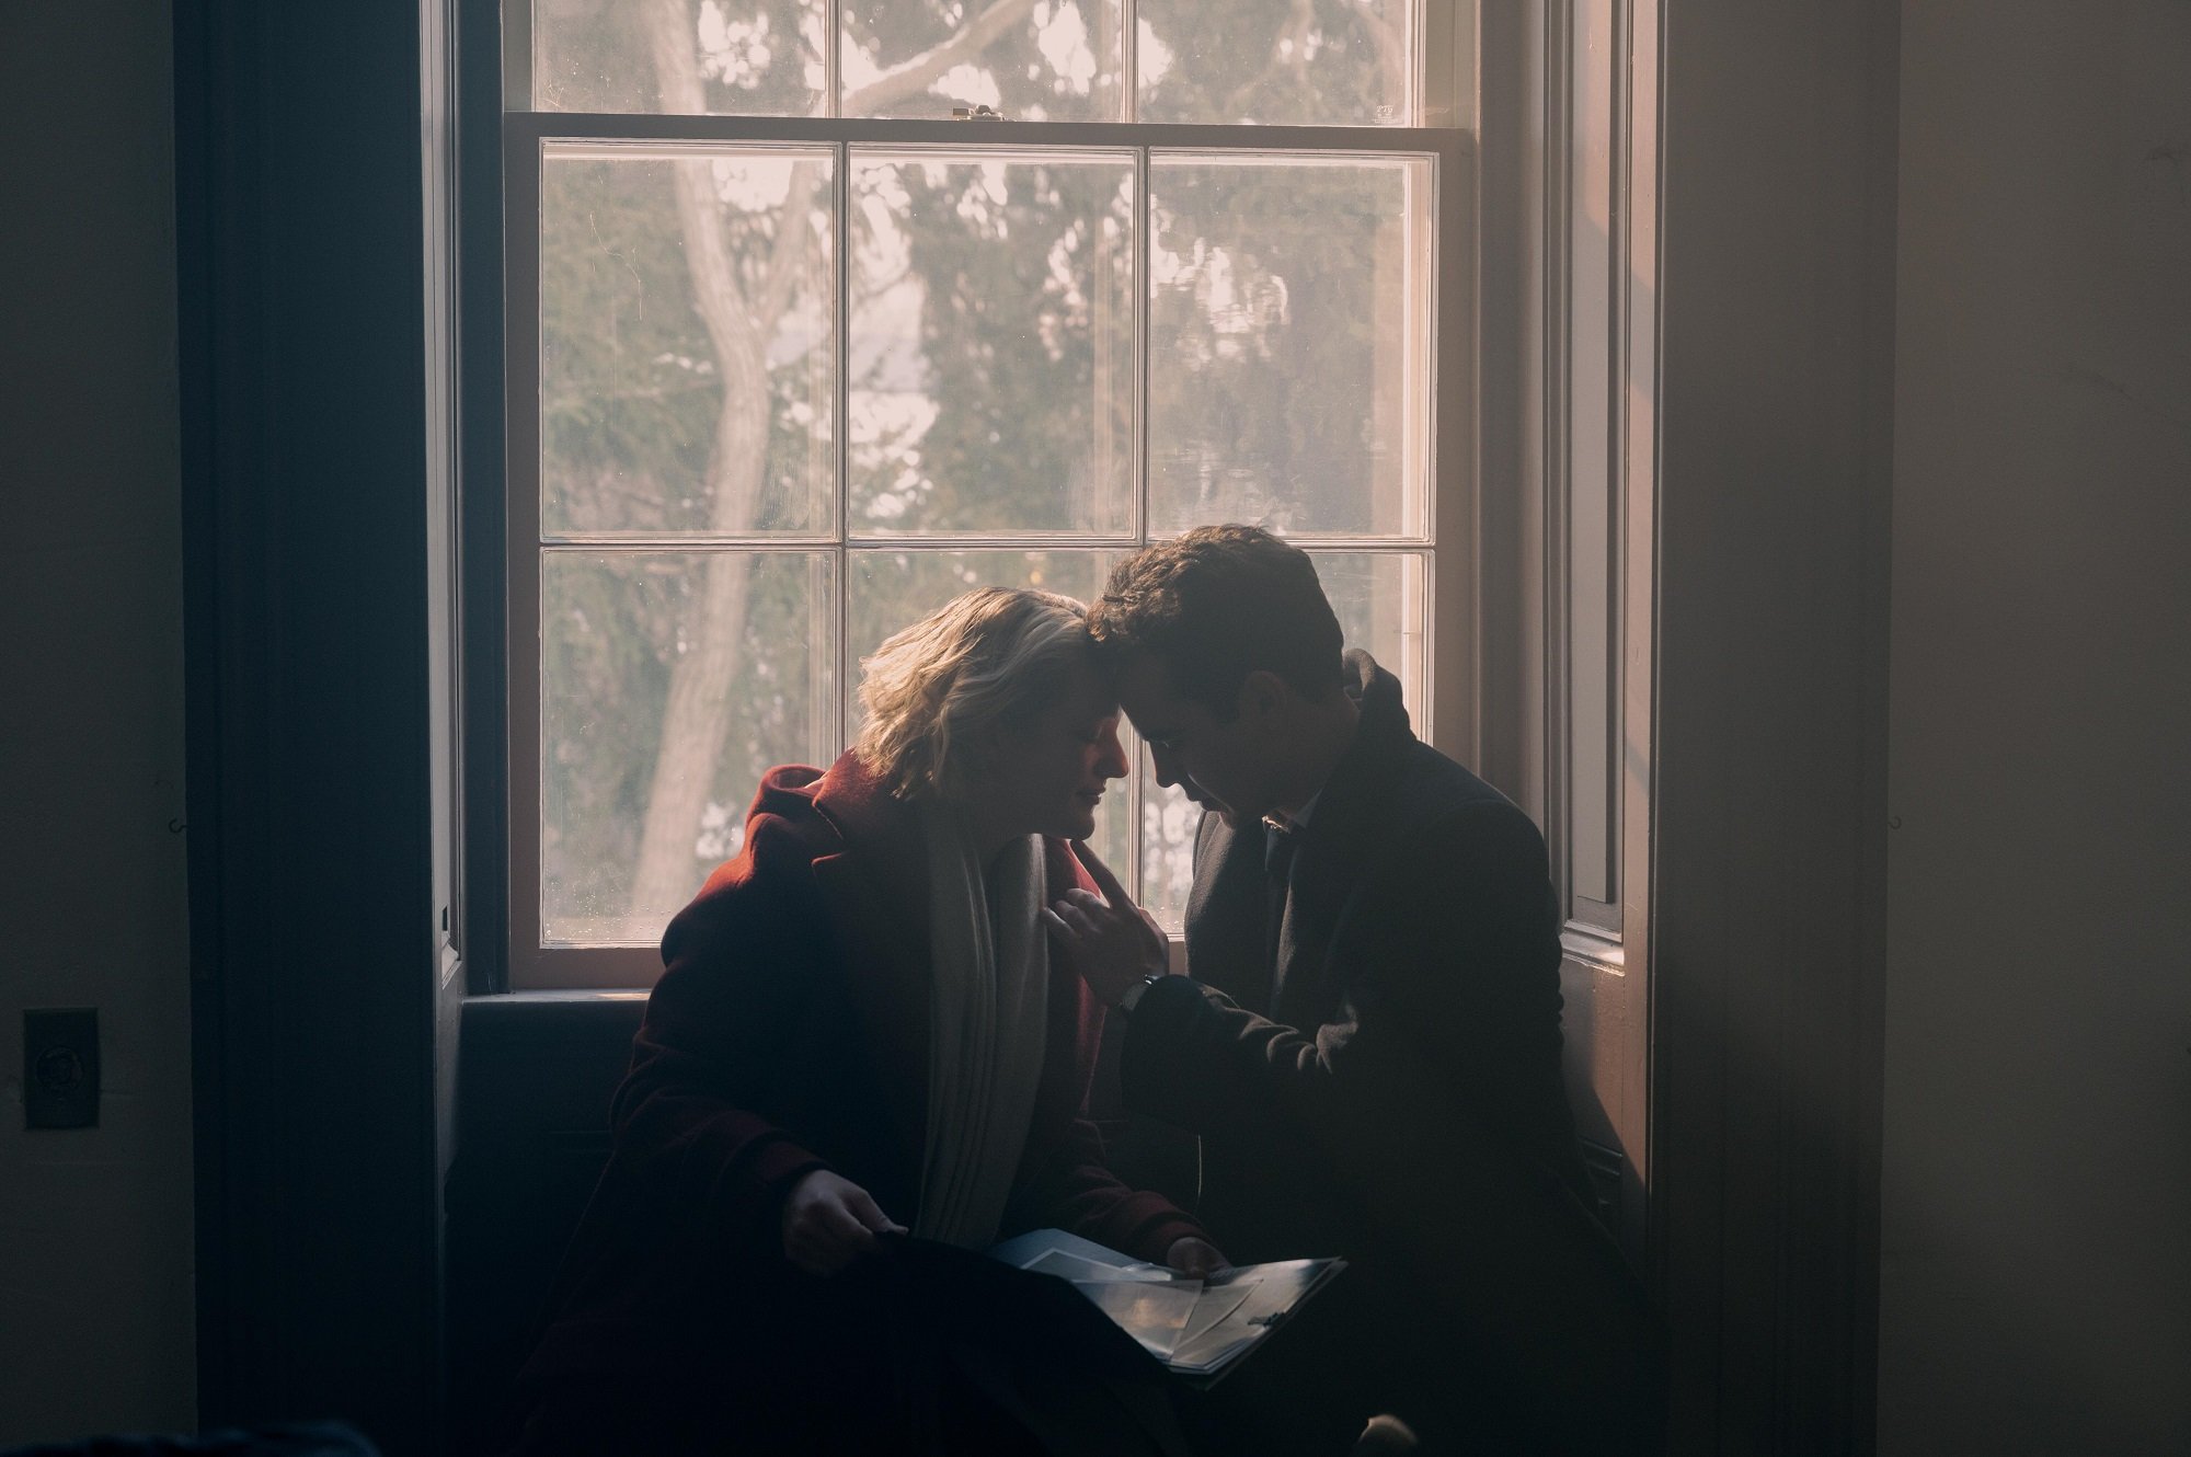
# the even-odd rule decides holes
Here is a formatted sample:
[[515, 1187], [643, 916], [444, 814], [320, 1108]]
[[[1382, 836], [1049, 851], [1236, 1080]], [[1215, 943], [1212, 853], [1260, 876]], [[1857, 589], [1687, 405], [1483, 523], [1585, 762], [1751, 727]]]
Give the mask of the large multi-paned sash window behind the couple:
[[[1418, 0], [537, 0], [508, 42], [515, 986], [651, 982], [760, 771], [973, 585], [1260, 521], [1418, 725], [1455, 701], [1472, 184]], [[1135, 765], [1100, 850], [1177, 922], [1192, 806]]]

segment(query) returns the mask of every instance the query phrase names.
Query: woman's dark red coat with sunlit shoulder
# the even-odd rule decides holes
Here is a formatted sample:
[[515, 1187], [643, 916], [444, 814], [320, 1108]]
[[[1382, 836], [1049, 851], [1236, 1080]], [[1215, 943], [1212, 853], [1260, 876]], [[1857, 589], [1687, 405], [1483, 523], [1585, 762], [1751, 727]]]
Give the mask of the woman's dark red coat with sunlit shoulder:
[[[1045, 868], [1049, 896], [1087, 883], [1060, 841]], [[521, 1450], [583, 1450], [570, 1424], [603, 1409], [618, 1413], [616, 1450], [701, 1450], [695, 1433], [708, 1450], [896, 1442], [892, 1402], [936, 1400], [892, 1345], [918, 1312], [861, 1269], [890, 1260], [795, 1271], [780, 1218], [817, 1168], [903, 1225], [918, 1212], [931, 977], [918, 817], [850, 754], [828, 773], [771, 769], [738, 857], [670, 922], [662, 960], [611, 1106], [609, 1168], [519, 1378]], [[999, 1238], [1056, 1225], [1161, 1260], [1203, 1229], [1104, 1168], [1080, 1117], [1100, 1010], [1056, 964], [1047, 1006]], [[868, 1426], [817, 1426], [839, 1415]]]

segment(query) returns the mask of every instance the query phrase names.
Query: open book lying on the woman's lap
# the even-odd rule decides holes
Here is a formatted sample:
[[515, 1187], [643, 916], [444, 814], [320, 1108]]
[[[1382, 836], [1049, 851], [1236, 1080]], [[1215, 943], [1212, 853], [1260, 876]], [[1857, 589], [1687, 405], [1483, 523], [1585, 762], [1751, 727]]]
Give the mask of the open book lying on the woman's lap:
[[1012, 1269], [1071, 1282], [1179, 1376], [1216, 1380], [1323, 1288], [1345, 1260], [1240, 1264], [1192, 1280], [1063, 1229], [1036, 1229], [988, 1251]]

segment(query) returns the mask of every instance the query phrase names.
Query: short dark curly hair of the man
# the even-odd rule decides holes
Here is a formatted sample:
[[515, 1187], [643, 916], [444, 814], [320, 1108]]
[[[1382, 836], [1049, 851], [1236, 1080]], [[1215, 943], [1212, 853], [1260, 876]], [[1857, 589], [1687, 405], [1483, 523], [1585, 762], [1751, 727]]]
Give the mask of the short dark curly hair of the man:
[[1196, 526], [1117, 563], [1089, 631], [1104, 657], [1163, 662], [1170, 690], [1231, 719], [1249, 673], [1326, 701], [1345, 642], [1308, 552], [1258, 526]]

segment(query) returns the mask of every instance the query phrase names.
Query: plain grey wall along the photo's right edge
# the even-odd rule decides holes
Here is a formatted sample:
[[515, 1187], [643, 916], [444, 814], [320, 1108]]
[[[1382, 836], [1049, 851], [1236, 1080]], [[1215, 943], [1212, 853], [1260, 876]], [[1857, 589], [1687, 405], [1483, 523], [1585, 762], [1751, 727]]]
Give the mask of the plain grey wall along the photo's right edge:
[[1882, 1453], [2191, 1442], [2191, 4], [1908, 4]]

